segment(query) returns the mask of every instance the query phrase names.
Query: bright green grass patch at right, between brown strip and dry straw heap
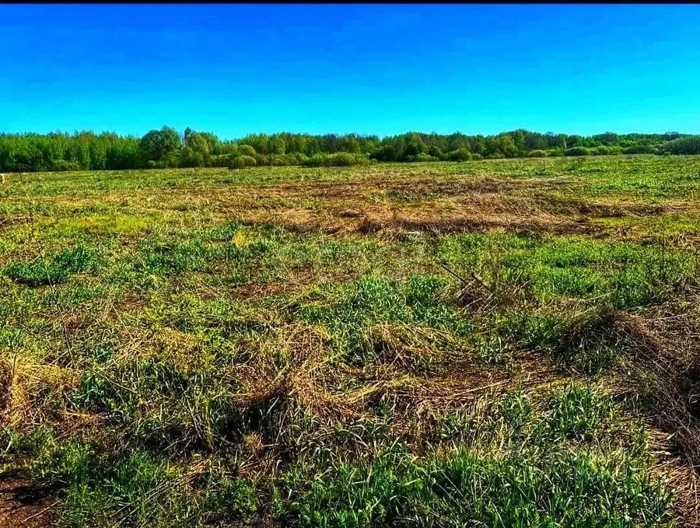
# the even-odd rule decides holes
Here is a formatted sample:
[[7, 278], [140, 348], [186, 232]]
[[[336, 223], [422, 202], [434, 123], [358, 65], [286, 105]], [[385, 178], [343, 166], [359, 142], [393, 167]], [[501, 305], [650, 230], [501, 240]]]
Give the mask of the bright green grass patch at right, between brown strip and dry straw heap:
[[494, 284], [531, 289], [544, 303], [607, 296], [624, 309], [658, 300], [669, 284], [694, 271], [690, 253], [582, 237], [456, 235], [441, 239], [437, 258], [483, 273]]

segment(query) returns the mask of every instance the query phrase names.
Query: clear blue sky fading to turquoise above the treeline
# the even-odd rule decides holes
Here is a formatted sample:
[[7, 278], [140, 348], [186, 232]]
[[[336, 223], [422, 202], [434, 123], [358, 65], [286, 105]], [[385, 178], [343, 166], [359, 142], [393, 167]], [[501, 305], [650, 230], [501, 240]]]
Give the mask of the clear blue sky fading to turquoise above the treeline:
[[696, 5], [0, 6], [0, 131], [700, 132]]

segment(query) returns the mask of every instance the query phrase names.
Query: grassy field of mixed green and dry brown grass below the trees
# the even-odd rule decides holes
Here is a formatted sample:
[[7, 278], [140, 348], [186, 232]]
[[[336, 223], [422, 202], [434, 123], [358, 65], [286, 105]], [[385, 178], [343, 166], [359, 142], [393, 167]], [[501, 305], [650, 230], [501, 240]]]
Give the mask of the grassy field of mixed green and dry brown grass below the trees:
[[700, 526], [699, 199], [675, 156], [11, 175], [0, 524]]

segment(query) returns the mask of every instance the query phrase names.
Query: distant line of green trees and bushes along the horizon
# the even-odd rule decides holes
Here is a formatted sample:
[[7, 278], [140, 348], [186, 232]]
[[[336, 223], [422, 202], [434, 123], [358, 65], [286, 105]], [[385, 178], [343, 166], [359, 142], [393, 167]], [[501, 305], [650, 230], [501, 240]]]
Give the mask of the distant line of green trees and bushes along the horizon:
[[358, 134], [250, 134], [222, 140], [209, 132], [171, 127], [144, 137], [111, 132], [0, 134], [0, 172], [36, 172], [165, 167], [302, 165], [330, 167], [383, 162], [468, 161], [611, 154], [700, 154], [700, 136], [540, 134], [514, 130], [494, 136], [423, 134], [393, 137]]

